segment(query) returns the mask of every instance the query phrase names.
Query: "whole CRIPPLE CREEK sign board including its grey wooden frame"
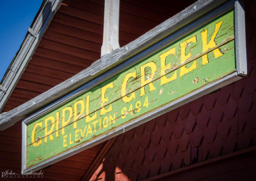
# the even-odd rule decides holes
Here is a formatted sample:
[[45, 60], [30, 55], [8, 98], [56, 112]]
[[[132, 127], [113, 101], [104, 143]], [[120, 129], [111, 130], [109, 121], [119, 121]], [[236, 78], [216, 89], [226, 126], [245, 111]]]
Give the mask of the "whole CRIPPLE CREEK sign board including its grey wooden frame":
[[43, 168], [238, 80], [246, 59], [236, 54], [236, 13], [234, 4], [218, 8], [116, 67], [108, 80], [24, 120], [22, 170]]

